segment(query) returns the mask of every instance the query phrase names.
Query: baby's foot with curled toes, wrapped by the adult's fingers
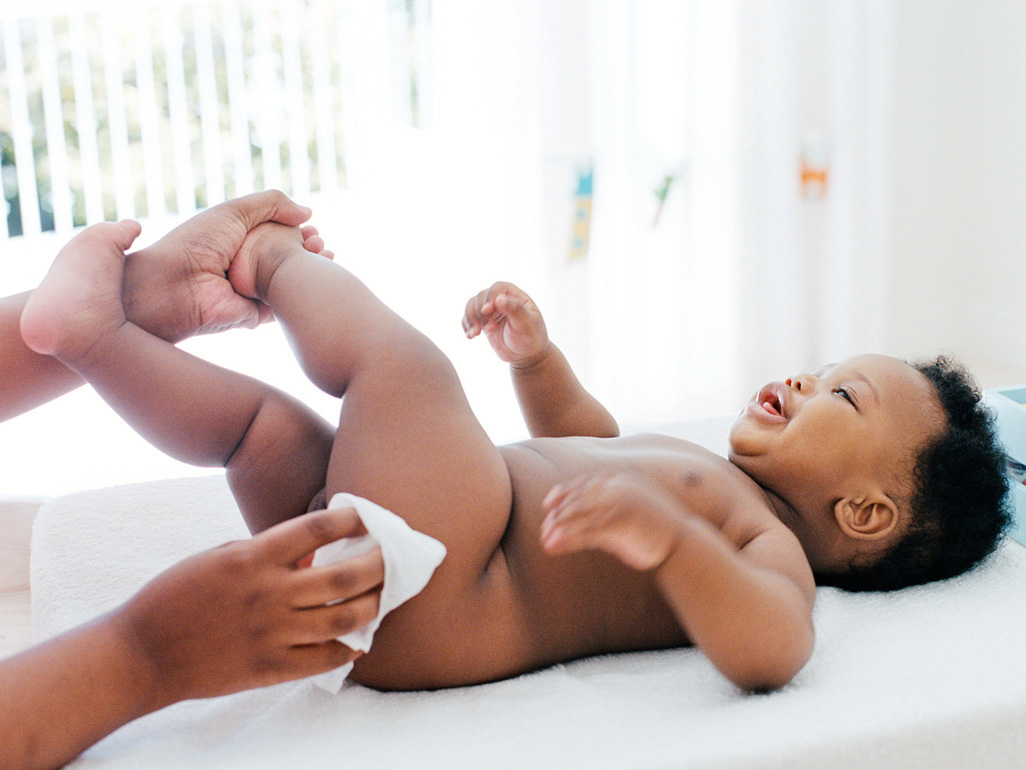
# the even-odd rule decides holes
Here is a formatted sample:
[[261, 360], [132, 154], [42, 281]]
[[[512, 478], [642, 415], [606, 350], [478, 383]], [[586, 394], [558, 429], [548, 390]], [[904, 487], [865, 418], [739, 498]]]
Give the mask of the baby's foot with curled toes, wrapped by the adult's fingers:
[[249, 231], [232, 259], [228, 269], [232, 288], [243, 297], [265, 300], [271, 276], [297, 251], [334, 258], [324, 248], [324, 239], [318, 235], [316, 227], [285, 227], [274, 222], [258, 225]]

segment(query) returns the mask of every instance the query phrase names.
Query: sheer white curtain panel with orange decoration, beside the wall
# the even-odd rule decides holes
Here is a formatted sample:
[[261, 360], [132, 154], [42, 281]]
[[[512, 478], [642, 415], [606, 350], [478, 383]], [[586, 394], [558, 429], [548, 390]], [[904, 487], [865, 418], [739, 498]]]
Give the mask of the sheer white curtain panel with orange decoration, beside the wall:
[[[758, 381], [883, 345], [891, 11], [742, 7], [740, 355]], [[802, 193], [802, 156], [825, 192]]]

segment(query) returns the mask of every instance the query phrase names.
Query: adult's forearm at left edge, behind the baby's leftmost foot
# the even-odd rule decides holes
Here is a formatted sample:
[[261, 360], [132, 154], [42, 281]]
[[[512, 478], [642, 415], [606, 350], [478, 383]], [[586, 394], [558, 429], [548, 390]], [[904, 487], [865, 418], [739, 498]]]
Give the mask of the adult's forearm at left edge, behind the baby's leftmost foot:
[[30, 293], [0, 299], [0, 421], [74, 390], [82, 380], [55, 358], [34, 353], [22, 341], [22, 310]]

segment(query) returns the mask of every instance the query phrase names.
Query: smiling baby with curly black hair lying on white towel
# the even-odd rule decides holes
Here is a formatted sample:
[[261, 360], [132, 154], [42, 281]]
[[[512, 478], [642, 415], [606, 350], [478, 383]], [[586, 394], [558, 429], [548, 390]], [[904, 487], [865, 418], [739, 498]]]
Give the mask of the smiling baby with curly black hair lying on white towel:
[[723, 459], [664, 435], [620, 437], [531, 300], [497, 283], [467, 304], [464, 330], [510, 364], [534, 437], [496, 447], [448, 359], [319, 256], [315, 231], [263, 225], [229, 278], [342, 398], [336, 427], [126, 321], [122, 271], [139, 232], [96, 225], [69, 243], [25, 309], [26, 343], [163, 451], [224, 466], [253, 532], [351, 492], [442, 541], [427, 587], [356, 662], [351, 678], [370, 687], [470, 685], [680, 645], [740, 687], [780, 687], [812, 654], [817, 578], [894, 588], [953, 575], [1007, 521], [990, 421], [943, 360], [863, 355], [771, 383]]

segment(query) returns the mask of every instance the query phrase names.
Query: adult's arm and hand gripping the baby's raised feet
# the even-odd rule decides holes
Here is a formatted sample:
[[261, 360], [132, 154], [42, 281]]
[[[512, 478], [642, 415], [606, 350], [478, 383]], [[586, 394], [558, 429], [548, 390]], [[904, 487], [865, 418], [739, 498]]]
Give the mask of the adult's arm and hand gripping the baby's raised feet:
[[[246, 233], [273, 221], [298, 226], [310, 209], [277, 191], [254, 193], [208, 208], [151, 246], [130, 255], [123, 299], [128, 320], [168, 342], [235, 326], [255, 326], [270, 311], [241, 297], [227, 278]], [[28, 412], [82, 384], [54, 358], [22, 341], [18, 323], [30, 293], [0, 299], [0, 421]]]

